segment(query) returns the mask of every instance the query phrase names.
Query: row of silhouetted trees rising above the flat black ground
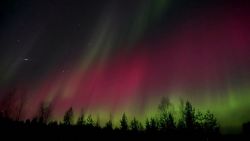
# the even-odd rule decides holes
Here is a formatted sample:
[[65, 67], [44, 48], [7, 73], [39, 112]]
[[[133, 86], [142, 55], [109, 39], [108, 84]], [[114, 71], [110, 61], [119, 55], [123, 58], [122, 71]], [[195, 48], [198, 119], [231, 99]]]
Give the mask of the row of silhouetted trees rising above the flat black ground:
[[[9, 96], [10, 97], [10, 96]], [[8, 97], [8, 99], [10, 99]], [[6, 101], [5, 101], [6, 102]], [[23, 103], [21, 106], [23, 106]], [[219, 134], [220, 127], [216, 117], [210, 111], [202, 113], [196, 110], [192, 104], [187, 102], [181, 102], [179, 118], [176, 118], [173, 110], [173, 105], [168, 98], [163, 97], [160, 104], [158, 105], [157, 116], [146, 118], [145, 122], [140, 122], [136, 117], [128, 120], [126, 113], [122, 114], [120, 119], [120, 125], [114, 126], [112, 116], [110, 115], [109, 120], [104, 126], [100, 125], [100, 118], [94, 119], [91, 114], [85, 115], [84, 112], [77, 118], [74, 123], [74, 110], [70, 107], [64, 114], [63, 121], [51, 120], [52, 104], [42, 103], [39, 108], [37, 115], [33, 119], [27, 119], [25, 121], [19, 118], [13, 118], [10, 115], [10, 111], [6, 111], [10, 108], [2, 109], [0, 112], [0, 124], [1, 125], [40, 125], [40, 126], [75, 126], [87, 129], [98, 129], [107, 131], [124, 131], [124, 132], [165, 132], [165, 133], [176, 133], [176, 132], [192, 132], [200, 134]], [[21, 115], [21, 108], [17, 108], [16, 111], [18, 116]]]

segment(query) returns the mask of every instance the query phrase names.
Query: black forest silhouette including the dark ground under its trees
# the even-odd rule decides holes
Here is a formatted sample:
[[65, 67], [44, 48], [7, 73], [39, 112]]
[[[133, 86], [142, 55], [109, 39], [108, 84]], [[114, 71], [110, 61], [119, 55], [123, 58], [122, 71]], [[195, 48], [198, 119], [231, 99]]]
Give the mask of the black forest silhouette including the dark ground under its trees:
[[[161, 138], [214, 140], [226, 137], [221, 134], [220, 125], [212, 112], [202, 113], [196, 110], [189, 101], [181, 101], [182, 106], [178, 119], [174, 116], [170, 100], [163, 97], [158, 105], [158, 116], [147, 117], [145, 122], [140, 122], [136, 117], [129, 120], [126, 113], [123, 113], [119, 126], [115, 126], [112, 114], [110, 114], [109, 120], [104, 126], [101, 126], [99, 117], [94, 119], [91, 114], [85, 115], [84, 112], [74, 122], [74, 109], [72, 107], [65, 111], [63, 121], [52, 120], [53, 105], [45, 103], [40, 104], [34, 118], [21, 120], [24, 102], [19, 101], [13, 104], [12, 96], [13, 94], [9, 93], [1, 102], [0, 128], [8, 134], [18, 133], [21, 135], [20, 137], [36, 135], [43, 139], [52, 137], [58, 140], [86, 137], [108, 137], [108, 139], [115, 140]], [[250, 122], [247, 122], [242, 126], [242, 135], [246, 137], [249, 133]], [[226, 139], [229, 138], [232, 139], [232, 136], [227, 136]]]

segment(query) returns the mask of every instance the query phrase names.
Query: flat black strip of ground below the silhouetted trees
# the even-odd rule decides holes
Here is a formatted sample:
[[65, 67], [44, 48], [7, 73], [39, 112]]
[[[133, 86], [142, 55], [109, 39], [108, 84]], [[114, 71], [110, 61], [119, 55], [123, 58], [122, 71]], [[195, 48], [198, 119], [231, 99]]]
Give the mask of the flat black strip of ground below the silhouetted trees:
[[122, 131], [120, 129], [96, 129], [77, 126], [1, 126], [1, 138], [5, 140], [250, 140], [249, 134], [202, 134], [198, 131]]

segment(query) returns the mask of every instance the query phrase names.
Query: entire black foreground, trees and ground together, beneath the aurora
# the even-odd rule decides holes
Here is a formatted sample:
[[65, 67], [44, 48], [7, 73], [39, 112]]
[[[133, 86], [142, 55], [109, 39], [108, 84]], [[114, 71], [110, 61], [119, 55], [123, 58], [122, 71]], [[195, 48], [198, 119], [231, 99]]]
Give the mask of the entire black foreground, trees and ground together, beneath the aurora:
[[11, 118], [8, 111], [0, 112], [0, 141], [2, 140], [152, 140], [152, 141], [250, 141], [250, 122], [242, 125], [242, 133], [223, 135], [216, 118], [210, 112], [202, 114], [195, 112], [189, 102], [183, 110], [183, 118], [176, 122], [171, 112], [167, 110], [163, 100], [160, 104], [160, 117], [151, 117], [145, 124], [136, 118], [128, 121], [125, 113], [120, 120], [120, 126], [114, 128], [110, 119], [104, 127], [97, 119], [93, 120], [84, 114], [73, 123], [73, 109], [66, 111], [63, 121], [49, 121], [50, 110], [41, 106], [39, 114], [32, 120]]

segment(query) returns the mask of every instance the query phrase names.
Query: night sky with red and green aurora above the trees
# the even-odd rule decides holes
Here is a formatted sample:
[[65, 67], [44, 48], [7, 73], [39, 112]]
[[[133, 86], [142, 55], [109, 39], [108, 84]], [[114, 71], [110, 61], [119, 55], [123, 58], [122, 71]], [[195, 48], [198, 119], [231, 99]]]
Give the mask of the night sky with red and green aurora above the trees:
[[106, 117], [143, 116], [166, 96], [213, 111], [223, 128], [239, 127], [250, 119], [249, 6], [237, 0], [0, 2], [0, 98], [16, 88], [27, 97], [26, 117], [46, 101], [61, 118], [70, 106]]

